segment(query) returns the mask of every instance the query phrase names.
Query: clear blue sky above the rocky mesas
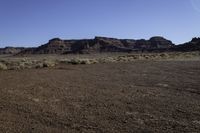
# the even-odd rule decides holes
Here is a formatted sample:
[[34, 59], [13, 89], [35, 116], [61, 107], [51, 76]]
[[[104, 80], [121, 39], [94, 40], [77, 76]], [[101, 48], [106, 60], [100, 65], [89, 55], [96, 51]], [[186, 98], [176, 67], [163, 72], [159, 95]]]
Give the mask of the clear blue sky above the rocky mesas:
[[200, 0], [0, 0], [0, 47], [106, 36], [200, 36]]

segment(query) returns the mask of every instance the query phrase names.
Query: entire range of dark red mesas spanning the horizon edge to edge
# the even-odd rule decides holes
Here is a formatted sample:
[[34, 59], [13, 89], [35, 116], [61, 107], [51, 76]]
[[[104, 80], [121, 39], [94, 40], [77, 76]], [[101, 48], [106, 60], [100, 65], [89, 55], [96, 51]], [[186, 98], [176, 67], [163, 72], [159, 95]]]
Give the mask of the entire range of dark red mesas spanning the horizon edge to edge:
[[101, 52], [163, 52], [163, 51], [195, 51], [200, 50], [200, 38], [190, 42], [174, 45], [164, 37], [155, 36], [149, 40], [117, 39], [95, 37], [94, 39], [62, 40], [54, 38], [48, 43], [35, 48], [6, 47], [0, 49], [0, 54], [69, 54], [69, 53], [101, 53]]

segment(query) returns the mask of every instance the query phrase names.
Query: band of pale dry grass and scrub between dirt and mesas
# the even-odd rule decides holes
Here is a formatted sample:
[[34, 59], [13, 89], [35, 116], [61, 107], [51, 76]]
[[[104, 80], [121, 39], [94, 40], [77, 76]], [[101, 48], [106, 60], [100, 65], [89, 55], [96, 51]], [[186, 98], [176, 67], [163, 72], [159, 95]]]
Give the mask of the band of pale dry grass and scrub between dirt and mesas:
[[186, 60], [200, 59], [200, 52], [171, 52], [171, 53], [131, 53], [99, 55], [72, 55], [70, 56], [30, 56], [10, 57], [0, 60], [0, 70], [21, 70], [31, 68], [53, 68], [58, 64], [85, 65], [96, 63], [132, 62], [138, 60]]

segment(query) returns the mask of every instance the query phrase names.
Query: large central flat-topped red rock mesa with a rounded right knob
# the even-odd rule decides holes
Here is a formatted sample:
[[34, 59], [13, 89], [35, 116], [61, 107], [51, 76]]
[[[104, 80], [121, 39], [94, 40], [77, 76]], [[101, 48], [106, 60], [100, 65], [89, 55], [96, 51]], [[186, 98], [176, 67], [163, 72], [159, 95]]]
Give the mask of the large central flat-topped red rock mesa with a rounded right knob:
[[83, 40], [61, 40], [54, 38], [47, 44], [36, 49], [22, 51], [21, 54], [67, 54], [67, 53], [96, 53], [96, 52], [131, 52], [134, 50], [149, 50], [170, 48], [174, 44], [163, 38], [153, 37], [150, 40], [116, 39], [95, 37]]

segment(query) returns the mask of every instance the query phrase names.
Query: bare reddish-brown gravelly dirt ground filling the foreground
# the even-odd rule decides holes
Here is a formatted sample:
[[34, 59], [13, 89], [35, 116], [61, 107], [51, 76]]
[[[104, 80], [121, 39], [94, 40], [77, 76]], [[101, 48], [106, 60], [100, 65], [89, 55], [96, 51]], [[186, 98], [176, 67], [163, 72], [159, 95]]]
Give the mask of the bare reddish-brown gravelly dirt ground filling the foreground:
[[200, 132], [200, 61], [0, 71], [2, 133]]

